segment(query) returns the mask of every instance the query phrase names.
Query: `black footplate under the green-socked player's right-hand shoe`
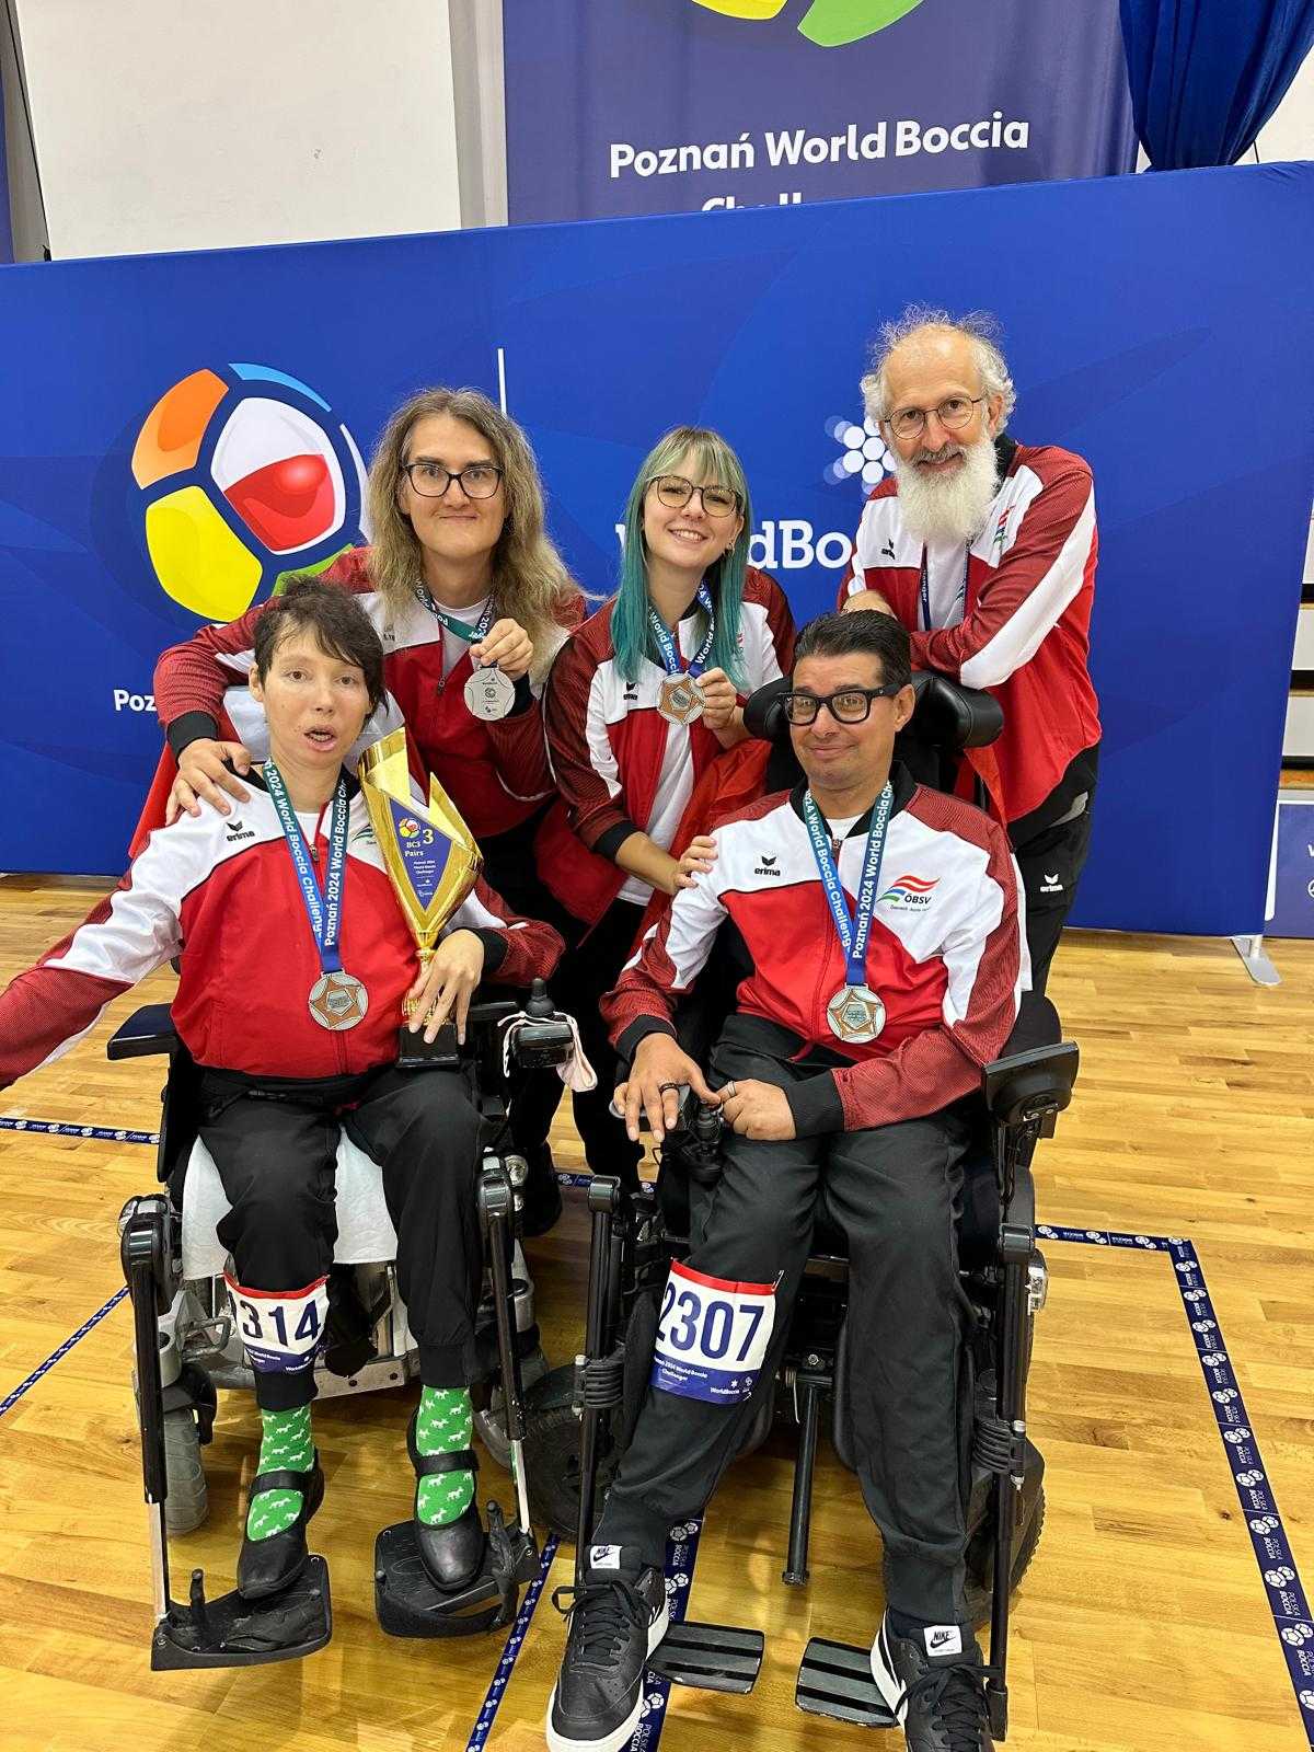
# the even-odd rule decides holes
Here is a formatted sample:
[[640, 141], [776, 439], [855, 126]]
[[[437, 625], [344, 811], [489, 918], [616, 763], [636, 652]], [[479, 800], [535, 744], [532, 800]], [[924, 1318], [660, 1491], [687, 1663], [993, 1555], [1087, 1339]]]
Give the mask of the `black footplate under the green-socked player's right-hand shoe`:
[[415, 1522], [398, 1521], [375, 1540], [375, 1612], [389, 1636], [477, 1636], [512, 1622], [520, 1584], [536, 1575], [533, 1533], [515, 1522], [506, 1526], [496, 1503], [489, 1503], [484, 1568], [452, 1593], [438, 1587], [424, 1568]]

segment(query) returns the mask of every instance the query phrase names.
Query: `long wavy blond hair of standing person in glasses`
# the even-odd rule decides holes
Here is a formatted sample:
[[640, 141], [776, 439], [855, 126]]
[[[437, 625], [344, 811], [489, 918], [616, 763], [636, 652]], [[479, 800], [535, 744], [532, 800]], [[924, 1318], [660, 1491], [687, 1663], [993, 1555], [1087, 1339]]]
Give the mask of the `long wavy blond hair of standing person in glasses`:
[[370, 463], [370, 578], [392, 613], [415, 601], [422, 580], [420, 543], [398, 503], [406, 447], [420, 420], [449, 413], [487, 440], [503, 471], [506, 522], [492, 550], [492, 597], [498, 615], [519, 620], [529, 634], [531, 673], [547, 675], [562, 639], [562, 610], [583, 592], [566, 571], [543, 527], [543, 484], [529, 440], [478, 389], [422, 389], [396, 410], [384, 427]]

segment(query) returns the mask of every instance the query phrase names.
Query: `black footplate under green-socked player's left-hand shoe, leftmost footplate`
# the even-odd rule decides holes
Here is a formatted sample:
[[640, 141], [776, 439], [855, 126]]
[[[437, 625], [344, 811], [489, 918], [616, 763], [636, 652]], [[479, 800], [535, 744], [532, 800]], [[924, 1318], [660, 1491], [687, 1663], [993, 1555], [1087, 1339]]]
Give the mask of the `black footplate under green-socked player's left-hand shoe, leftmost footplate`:
[[244, 1600], [237, 1589], [205, 1598], [201, 1572], [191, 1572], [186, 1607], [168, 1601], [151, 1636], [156, 1673], [205, 1666], [261, 1666], [300, 1661], [333, 1635], [328, 1565], [312, 1556], [301, 1575], [268, 1600]]

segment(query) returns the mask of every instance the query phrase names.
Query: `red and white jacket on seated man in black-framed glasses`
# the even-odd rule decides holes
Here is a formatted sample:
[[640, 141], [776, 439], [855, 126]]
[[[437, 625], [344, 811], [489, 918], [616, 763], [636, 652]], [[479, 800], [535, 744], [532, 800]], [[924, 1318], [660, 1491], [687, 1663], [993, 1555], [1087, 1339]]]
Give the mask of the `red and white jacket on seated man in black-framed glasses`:
[[[645, 1034], [675, 1034], [676, 1002], [713, 955], [738, 976], [736, 1011], [823, 1046], [851, 1065], [788, 1091], [799, 1137], [855, 1132], [936, 1113], [979, 1086], [1018, 1016], [1028, 978], [1018, 876], [1002, 827], [972, 804], [923, 790], [895, 766], [880, 899], [867, 939], [867, 985], [885, 1028], [841, 1042], [825, 1007], [844, 985], [844, 951], [802, 820], [804, 787], [724, 820], [711, 872], [648, 930], [603, 1000], [625, 1058]], [[853, 916], [869, 815], [839, 848]], [[720, 937], [718, 937], [720, 934]]]

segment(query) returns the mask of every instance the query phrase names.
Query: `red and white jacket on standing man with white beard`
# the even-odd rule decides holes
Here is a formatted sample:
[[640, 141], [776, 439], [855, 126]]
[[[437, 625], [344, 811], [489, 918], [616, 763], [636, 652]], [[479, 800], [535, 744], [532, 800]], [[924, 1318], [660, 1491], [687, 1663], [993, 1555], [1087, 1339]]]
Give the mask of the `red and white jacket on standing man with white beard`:
[[864, 506], [836, 606], [857, 590], [880, 590], [908, 627], [918, 668], [941, 669], [999, 699], [1004, 731], [992, 748], [969, 750], [967, 762], [992, 790], [1000, 818], [1016, 822], [1100, 739], [1088, 669], [1099, 534], [1088, 463], [1056, 445], [1020, 445], [1007, 436], [995, 450], [1000, 484], [967, 554], [965, 603], [957, 599], [964, 550], [930, 554], [934, 625], [922, 625], [925, 550], [904, 527], [890, 477]]

